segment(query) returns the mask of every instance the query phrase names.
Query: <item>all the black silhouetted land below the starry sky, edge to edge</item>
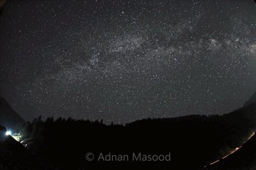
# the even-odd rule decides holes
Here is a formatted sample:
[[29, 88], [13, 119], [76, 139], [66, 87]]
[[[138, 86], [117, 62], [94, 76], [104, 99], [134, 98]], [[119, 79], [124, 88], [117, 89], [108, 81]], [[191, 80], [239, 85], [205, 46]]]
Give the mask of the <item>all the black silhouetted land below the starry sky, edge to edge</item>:
[[[3, 102], [1, 108], [6, 108]], [[2, 114], [3, 109], [0, 117]], [[104, 120], [47, 118], [42, 121], [37, 118], [20, 128], [20, 143], [11, 136], [2, 138], [0, 167], [255, 169], [255, 136], [244, 144], [255, 131], [255, 122], [256, 104], [253, 102], [222, 116], [147, 119], [127, 125], [104, 125]], [[2, 130], [1, 136], [4, 135]], [[240, 150], [221, 160], [242, 145]], [[151, 160], [153, 155], [157, 155], [154, 156], [156, 161]], [[209, 166], [216, 160], [221, 161]]]

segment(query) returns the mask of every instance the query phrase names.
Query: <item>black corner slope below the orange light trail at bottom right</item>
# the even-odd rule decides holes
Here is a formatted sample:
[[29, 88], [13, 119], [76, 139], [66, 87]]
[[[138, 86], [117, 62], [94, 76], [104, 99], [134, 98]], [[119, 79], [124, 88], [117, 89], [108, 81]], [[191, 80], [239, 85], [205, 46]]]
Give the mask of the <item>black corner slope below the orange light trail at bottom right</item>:
[[227, 158], [205, 168], [205, 170], [253, 170], [256, 169], [256, 135]]

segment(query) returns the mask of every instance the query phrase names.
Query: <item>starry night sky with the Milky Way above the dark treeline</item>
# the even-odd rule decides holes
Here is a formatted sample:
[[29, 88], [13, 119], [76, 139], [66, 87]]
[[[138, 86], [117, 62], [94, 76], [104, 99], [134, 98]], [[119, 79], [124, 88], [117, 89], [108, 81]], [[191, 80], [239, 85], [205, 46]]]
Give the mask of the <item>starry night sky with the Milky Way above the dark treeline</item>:
[[256, 91], [252, 0], [12, 0], [0, 93], [24, 119], [223, 114]]

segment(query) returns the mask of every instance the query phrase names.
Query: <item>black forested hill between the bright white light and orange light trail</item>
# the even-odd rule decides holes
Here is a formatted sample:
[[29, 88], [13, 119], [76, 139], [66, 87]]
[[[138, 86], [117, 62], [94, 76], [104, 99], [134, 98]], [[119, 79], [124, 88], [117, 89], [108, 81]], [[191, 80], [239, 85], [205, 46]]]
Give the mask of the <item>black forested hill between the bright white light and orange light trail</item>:
[[[222, 116], [147, 119], [127, 125], [41, 118], [27, 122], [23, 143], [59, 169], [198, 169], [246, 141], [256, 127], [256, 104]], [[88, 162], [86, 153], [171, 153], [170, 162]]]

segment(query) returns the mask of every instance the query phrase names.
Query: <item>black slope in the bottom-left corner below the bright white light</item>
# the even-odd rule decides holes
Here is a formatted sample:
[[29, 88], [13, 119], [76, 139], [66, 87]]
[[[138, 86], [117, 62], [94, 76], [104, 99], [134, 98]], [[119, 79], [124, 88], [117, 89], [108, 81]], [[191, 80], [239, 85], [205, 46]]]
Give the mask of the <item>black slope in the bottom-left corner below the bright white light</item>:
[[[0, 135], [3, 137], [5, 134], [1, 132]], [[5, 136], [5, 138], [4, 142], [0, 141], [0, 169], [50, 169], [12, 136]]]

